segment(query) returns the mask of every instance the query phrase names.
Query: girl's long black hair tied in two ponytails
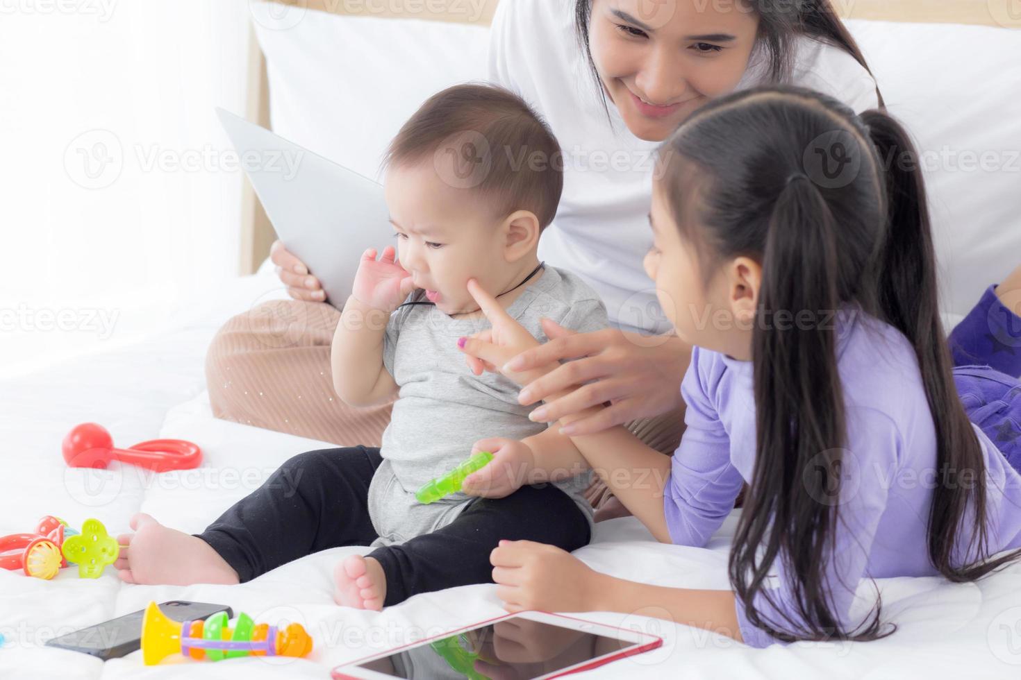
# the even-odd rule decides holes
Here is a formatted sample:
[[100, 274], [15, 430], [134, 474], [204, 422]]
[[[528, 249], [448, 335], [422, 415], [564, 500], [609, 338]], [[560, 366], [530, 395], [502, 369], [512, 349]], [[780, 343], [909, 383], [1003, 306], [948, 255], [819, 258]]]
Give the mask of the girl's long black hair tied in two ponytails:
[[[985, 461], [952, 376], [918, 160], [883, 111], [858, 116], [801, 88], [758, 88], [693, 113], [661, 148], [657, 181], [703, 278], [725, 258], [761, 262], [757, 321], [850, 309], [907, 337], [937, 442], [929, 559], [946, 578], [972, 581], [1019, 553], [987, 559]], [[880, 605], [844, 630], [824, 578], [839, 510], [825, 501], [839, 499], [847, 432], [840, 328], [816, 319], [752, 331], [756, 465], [730, 580], [748, 620], [773, 637], [875, 639], [893, 630], [880, 625]], [[772, 603], [764, 584], [777, 559], [795, 615], [782, 621], [753, 604], [760, 593]]]

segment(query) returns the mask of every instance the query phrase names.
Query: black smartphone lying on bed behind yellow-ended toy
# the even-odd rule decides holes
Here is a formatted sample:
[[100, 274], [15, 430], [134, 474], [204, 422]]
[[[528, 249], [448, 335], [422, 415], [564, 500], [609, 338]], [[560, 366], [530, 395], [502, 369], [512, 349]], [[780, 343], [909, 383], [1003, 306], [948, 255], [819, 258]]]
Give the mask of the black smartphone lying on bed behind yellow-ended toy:
[[[189, 603], [174, 599], [159, 606], [160, 611], [175, 621], [194, 621], [212, 616], [216, 612], [227, 612], [227, 617], [234, 616], [230, 607], [225, 605], [208, 605], [206, 603]], [[76, 630], [72, 633], [46, 640], [46, 645], [81, 651], [103, 661], [130, 655], [142, 646], [142, 616], [145, 610], [132, 612], [116, 619]]]

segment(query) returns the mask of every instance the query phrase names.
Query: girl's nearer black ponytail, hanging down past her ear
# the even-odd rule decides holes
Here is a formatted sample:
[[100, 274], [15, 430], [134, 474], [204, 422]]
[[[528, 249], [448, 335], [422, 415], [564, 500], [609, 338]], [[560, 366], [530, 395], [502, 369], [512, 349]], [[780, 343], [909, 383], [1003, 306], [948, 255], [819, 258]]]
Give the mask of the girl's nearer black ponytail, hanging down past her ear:
[[[786, 640], [847, 635], [818, 579], [837, 514], [835, 503], [819, 500], [839, 491], [846, 439], [836, 328], [819, 323], [839, 311], [838, 228], [820, 187], [789, 175], [769, 219], [752, 339], [756, 403], [771, 407], [756, 412], [756, 460], [764, 464], [755, 466], [729, 565], [749, 621]], [[770, 597], [766, 577], [781, 555], [796, 616], [770, 621], [752, 600]], [[878, 617], [856, 639], [877, 630]]]

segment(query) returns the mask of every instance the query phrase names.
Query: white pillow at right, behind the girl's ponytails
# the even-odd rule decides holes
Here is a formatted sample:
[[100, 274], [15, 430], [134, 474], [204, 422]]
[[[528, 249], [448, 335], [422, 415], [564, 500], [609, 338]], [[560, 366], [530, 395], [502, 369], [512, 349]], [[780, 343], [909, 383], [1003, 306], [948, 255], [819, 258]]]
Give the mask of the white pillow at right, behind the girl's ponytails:
[[[943, 309], [1021, 265], [1021, 31], [847, 22], [925, 168]], [[986, 169], [982, 169], [984, 167]]]

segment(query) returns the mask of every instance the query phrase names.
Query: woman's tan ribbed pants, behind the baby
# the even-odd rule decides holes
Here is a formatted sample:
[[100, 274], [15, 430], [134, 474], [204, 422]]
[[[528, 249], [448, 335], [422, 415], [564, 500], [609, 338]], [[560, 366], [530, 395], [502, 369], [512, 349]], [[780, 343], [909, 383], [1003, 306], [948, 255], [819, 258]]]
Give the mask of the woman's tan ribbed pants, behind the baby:
[[[339, 321], [331, 305], [297, 300], [266, 302], [233, 317], [205, 359], [213, 415], [338, 446], [379, 447], [391, 404], [355, 409], [333, 389], [330, 345]], [[628, 428], [669, 455], [680, 441], [684, 417], [668, 413]], [[598, 508], [612, 494], [596, 481], [586, 495]]]

